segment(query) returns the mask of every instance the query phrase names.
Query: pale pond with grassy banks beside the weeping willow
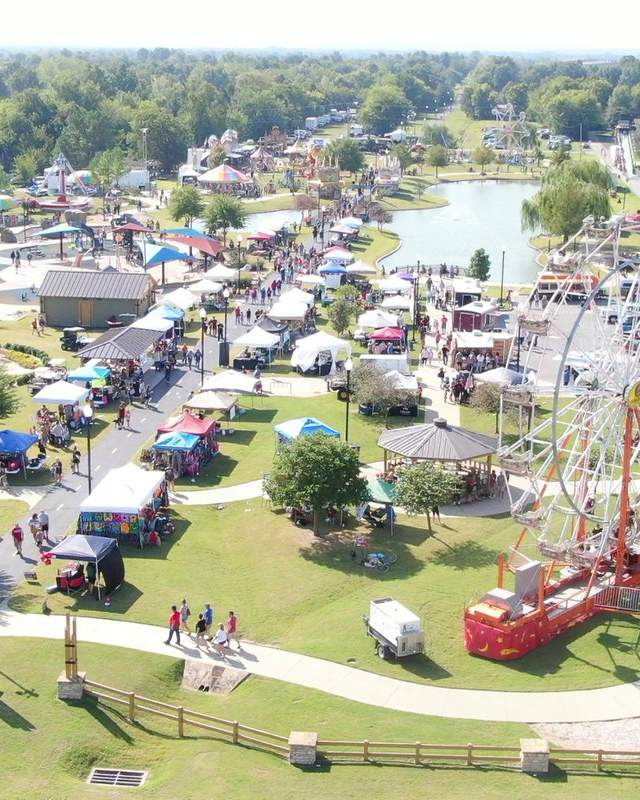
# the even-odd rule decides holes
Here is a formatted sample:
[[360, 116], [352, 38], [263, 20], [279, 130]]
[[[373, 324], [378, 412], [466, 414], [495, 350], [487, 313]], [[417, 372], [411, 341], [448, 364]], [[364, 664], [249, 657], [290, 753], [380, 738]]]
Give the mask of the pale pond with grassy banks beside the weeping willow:
[[520, 205], [534, 195], [538, 185], [529, 181], [460, 181], [441, 183], [429, 194], [445, 197], [448, 206], [400, 211], [390, 226], [402, 246], [383, 264], [400, 267], [415, 264], [467, 266], [474, 250], [484, 247], [491, 259], [491, 280], [500, 280], [502, 249], [505, 282], [532, 281], [538, 272], [536, 251], [520, 230]]

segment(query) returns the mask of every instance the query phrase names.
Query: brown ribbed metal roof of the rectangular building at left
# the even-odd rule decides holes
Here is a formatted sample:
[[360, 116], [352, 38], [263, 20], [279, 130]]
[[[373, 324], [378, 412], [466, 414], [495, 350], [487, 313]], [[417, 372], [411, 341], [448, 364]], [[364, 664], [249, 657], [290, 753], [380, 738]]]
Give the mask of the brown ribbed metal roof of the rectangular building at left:
[[152, 280], [144, 272], [50, 269], [38, 294], [81, 300], [141, 300]]

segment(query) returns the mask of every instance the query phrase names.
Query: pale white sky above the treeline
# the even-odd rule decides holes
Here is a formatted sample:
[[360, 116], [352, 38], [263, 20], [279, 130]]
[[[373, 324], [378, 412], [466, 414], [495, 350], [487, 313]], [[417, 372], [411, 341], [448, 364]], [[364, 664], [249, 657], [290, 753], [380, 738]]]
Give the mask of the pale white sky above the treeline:
[[184, 6], [29, 0], [4, 6], [0, 48], [640, 50], [637, 0], [611, 6], [586, 0], [188, 0]]

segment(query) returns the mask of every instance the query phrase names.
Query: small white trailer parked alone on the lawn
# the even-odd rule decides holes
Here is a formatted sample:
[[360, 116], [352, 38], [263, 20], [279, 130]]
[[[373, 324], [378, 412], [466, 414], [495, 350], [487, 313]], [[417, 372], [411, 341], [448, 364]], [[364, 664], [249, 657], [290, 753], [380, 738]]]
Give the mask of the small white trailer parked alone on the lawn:
[[376, 641], [380, 658], [404, 658], [424, 653], [422, 622], [412, 611], [393, 600], [382, 597], [369, 603], [369, 616], [364, 617], [367, 635]]

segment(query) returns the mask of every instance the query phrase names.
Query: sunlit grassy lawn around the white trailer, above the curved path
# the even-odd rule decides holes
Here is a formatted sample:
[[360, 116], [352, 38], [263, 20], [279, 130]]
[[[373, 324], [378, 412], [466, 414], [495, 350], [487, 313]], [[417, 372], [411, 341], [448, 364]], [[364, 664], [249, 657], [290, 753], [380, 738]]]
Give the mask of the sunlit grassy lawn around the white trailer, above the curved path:
[[[177, 532], [161, 549], [125, 545], [126, 583], [108, 609], [59, 594], [48, 596], [50, 608], [162, 625], [165, 607], [186, 594], [194, 611], [212, 602], [216, 618], [234, 608], [248, 639], [439, 686], [552, 691], [640, 677], [637, 625], [624, 616], [602, 616], [519, 661], [494, 663], [466, 652], [463, 609], [496, 585], [497, 556], [518, 533], [506, 515], [443, 519], [431, 534], [425, 520], [401, 517], [393, 537], [351, 520], [350, 528], [316, 538], [258, 499], [221, 510], [177, 506], [173, 513]], [[351, 557], [356, 531], [397, 555], [388, 573]], [[41, 587], [54, 574], [39, 567]], [[20, 586], [13, 607], [39, 612], [42, 591]], [[372, 598], [385, 596], [423, 618], [425, 657], [396, 664], [375, 655], [362, 614]]]

